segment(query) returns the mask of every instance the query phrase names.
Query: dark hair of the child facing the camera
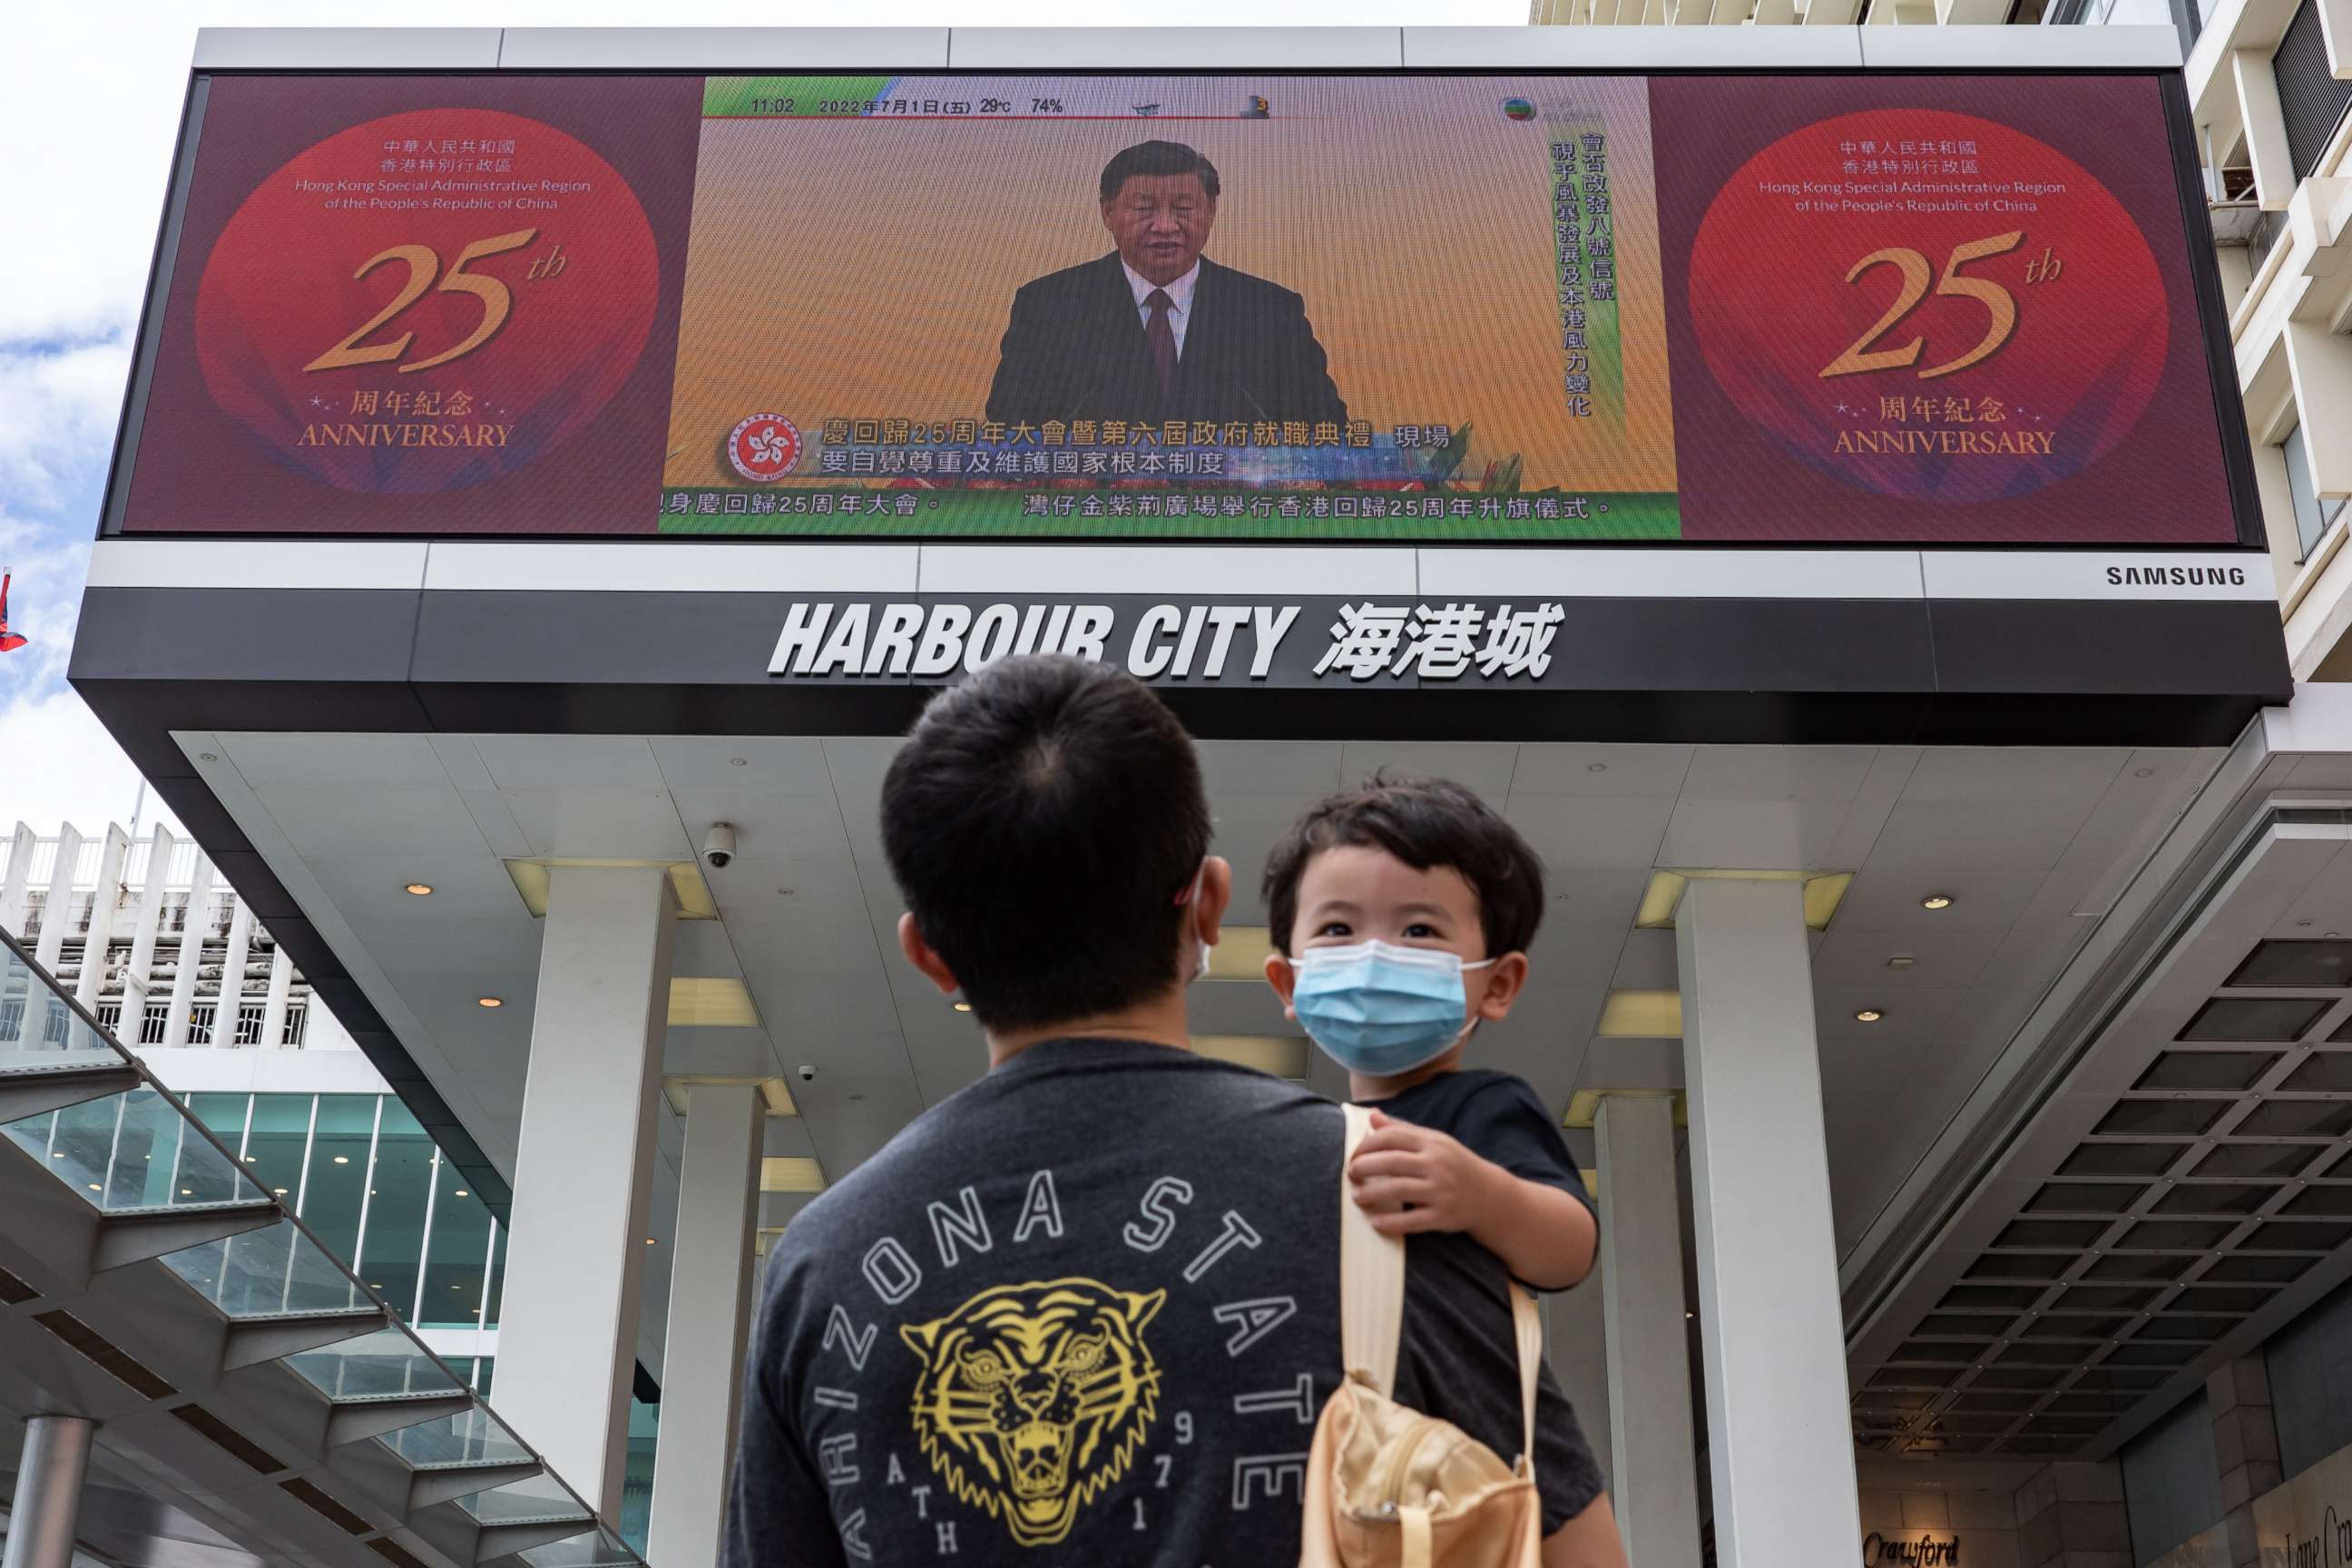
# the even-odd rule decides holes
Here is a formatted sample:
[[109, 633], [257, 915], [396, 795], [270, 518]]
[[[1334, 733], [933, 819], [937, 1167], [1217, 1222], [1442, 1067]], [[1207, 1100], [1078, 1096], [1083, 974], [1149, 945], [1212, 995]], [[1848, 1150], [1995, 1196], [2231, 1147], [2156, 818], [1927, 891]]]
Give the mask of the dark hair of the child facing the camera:
[[1308, 809], [1265, 856], [1265, 914], [1275, 947], [1291, 950], [1298, 919], [1298, 879], [1327, 849], [1362, 844], [1385, 849], [1416, 872], [1446, 865], [1477, 893], [1486, 954], [1524, 952], [1543, 924], [1543, 860], [1477, 792], [1449, 778], [1390, 778], [1374, 773], [1357, 790], [1341, 790]]

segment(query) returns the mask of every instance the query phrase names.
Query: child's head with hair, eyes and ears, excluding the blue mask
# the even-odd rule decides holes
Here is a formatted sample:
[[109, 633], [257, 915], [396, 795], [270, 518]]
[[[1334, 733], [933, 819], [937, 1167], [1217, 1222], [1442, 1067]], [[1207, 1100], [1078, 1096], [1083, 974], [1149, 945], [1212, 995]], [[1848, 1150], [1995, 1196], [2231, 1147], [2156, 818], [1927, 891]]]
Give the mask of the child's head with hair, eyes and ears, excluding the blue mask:
[[1374, 778], [1308, 809], [1265, 858], [1265, 912], [1282, 957], [1265, 978], [1284, 1001], [1308, 947], [1381, 940], [1465, 964], [1465, 1001], [1503, 1018], [1526, 980], [1543, 922], [1543, 860], [1472, 790], [1444, 778]]

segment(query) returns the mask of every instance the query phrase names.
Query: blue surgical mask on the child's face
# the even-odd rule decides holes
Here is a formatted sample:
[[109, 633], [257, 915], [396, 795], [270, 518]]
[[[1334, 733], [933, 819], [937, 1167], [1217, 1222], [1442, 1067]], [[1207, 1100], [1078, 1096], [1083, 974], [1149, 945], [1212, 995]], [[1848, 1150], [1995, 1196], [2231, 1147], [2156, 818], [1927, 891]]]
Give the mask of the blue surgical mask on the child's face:
[[1381, 940], [1305, 947], [1291, 959], [1291, 1011], [1341, 1067], [1385, 1079], [1437, 1060], [1470, 1032], [1463, 971], [1489, 964]]

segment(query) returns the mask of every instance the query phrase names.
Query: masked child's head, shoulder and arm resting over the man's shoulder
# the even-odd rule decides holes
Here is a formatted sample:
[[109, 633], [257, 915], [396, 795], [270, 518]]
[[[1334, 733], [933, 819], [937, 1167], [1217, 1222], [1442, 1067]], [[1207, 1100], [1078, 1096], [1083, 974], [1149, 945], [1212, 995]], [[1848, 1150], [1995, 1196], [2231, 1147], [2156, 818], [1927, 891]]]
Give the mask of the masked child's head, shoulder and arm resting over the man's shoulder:
[[1265, 860], [1284, 1011], [1348, 1067], [1374, 1131], [1348, 1166], [1376, 1229], [1468, 1232], [1524, 1284], [1592, 1272], [1592, 1199], [1536, 1091], [1463, 1067], [1510, 1013], [1543, 919], [1543, 860], [1486, 802], [1374, 778], [1298, 818]]

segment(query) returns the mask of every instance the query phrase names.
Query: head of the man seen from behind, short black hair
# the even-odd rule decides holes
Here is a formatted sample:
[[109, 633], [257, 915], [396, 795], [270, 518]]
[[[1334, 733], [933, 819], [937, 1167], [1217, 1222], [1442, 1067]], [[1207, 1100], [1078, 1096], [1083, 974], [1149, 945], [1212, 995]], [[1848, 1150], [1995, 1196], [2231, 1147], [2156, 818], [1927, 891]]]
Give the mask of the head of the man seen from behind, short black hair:
[[1061, 656], [931, 698], [882, 780], [882, 849], [908, 959], [997, 1037], [1167, 997], [1230, 893], [1176, 715]]

